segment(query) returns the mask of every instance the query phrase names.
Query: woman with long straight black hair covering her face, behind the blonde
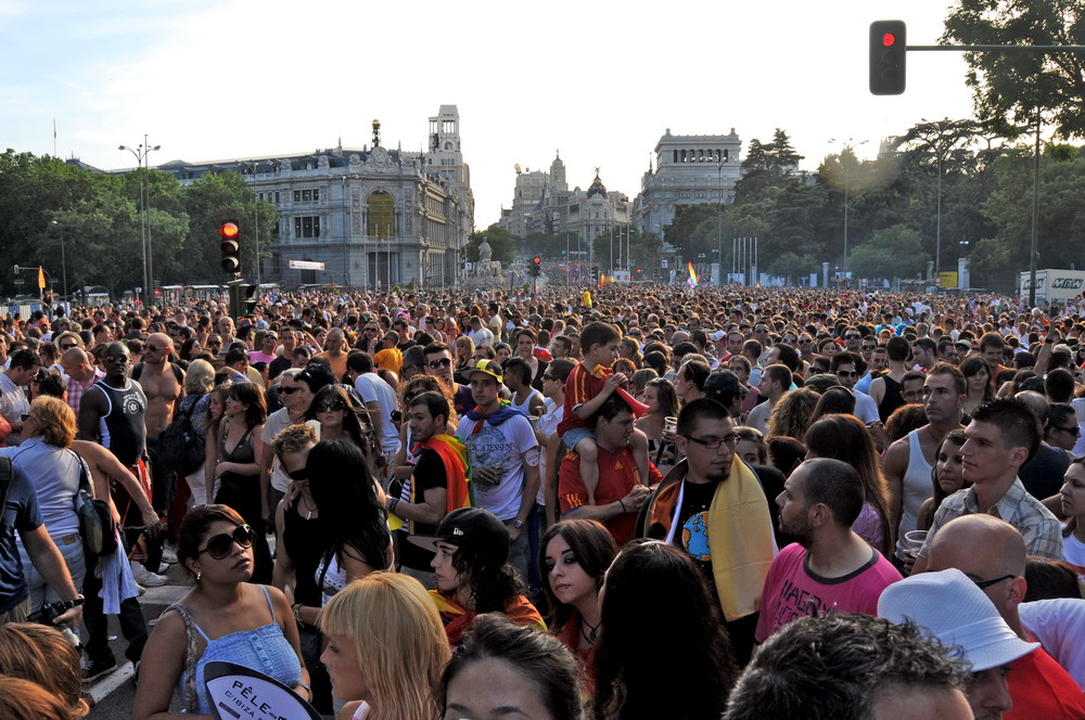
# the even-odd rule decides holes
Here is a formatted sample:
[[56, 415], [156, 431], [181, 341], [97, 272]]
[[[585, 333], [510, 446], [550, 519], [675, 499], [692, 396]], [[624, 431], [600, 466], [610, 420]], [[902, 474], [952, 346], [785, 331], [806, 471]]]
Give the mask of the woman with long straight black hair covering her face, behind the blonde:
[[375, 479], [353, 442], [321, 440], [309, 450], [305, 473], [330, 541], [317, 568], [326, 604], [352, 580], [390, 569], [392, 538]]

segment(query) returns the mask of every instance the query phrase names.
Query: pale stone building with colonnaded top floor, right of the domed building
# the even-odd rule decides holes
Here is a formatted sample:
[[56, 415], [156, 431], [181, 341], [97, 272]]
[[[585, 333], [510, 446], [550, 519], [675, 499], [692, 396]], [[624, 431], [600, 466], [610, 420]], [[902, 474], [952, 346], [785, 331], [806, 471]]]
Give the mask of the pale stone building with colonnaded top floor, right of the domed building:
[[655, 169], [649, 165], [635, 202], [641, 231], [662, 234], [678, 205], [730, 203], [741, 177], [742, 142], [728, 134], [676, 136], [671, 128], [655, 144]]

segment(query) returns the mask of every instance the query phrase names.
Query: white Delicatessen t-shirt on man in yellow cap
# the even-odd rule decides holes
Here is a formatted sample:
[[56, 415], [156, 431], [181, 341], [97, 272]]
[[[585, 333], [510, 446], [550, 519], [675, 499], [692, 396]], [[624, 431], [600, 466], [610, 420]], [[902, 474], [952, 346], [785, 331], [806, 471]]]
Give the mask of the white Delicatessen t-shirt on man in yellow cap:
[[477, 421], [460, 419], [456, 436], [468, 447], [471, 467], [499, 465], [501, 481], [493, 487], [475, 483], [475, 503], [497, 515], [501, 522], [513, 519], [520, 512], [525, 484], [525, 467], [538, 466], [539, 450], [532, 423], [523, 415], [509, 417], [500, 425], [483, 421], [474, 433]]

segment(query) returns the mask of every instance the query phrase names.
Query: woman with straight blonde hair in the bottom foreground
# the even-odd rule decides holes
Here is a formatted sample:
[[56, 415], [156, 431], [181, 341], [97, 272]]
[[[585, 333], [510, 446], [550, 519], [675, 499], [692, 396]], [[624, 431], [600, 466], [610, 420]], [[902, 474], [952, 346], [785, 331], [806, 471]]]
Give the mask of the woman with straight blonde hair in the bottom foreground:
[[430, 594], [407, 575], [373, 573], [337, 592], [319, 619], [320, 656], [337, 697], [339, 720], [435, 720], [433, 687], [449, 658]]

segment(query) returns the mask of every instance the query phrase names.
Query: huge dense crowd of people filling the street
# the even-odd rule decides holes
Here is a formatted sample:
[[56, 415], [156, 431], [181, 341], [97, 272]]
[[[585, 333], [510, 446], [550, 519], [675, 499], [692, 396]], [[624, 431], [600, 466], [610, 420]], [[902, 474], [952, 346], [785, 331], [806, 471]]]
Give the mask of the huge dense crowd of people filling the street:
[[[1085, 718], [1082, 303], [644, 284], [9, 317], [0, 696], [85, 716], [116, 615], [139, 720], [209, 717], [215, 660], [343, 720]], [[114, 550], [85, 548], [88, 486]], [[149, 632], [171, 564], [191, 587]]]

